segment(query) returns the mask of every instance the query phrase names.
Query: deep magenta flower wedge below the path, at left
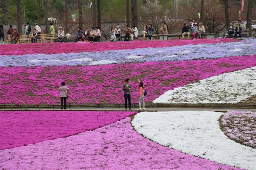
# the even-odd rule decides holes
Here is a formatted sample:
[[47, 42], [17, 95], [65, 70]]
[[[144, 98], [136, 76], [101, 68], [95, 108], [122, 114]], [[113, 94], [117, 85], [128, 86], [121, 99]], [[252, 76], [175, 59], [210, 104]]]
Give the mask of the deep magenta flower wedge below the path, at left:
[[94, 130], [133, 114], [136, 112], [0, 111], [0, 150]]

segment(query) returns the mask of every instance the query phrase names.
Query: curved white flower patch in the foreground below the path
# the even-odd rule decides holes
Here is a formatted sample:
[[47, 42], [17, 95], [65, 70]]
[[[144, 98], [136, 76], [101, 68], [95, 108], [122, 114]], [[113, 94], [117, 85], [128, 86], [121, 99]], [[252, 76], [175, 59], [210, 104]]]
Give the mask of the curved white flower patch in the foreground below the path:
[[140, 112], [132, 125], [156, 143], [212, 161], [255, 169], [256, 149], [236, 143], [219, 127], [220, 112]]

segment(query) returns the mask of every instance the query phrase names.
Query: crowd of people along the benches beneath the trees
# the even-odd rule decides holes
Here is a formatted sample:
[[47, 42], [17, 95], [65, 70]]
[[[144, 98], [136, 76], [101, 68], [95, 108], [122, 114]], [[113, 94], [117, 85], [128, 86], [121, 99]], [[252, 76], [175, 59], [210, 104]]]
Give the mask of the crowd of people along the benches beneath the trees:
[[[26, 23], [25, 25], [25, 34], [27, 36], [30, 36], [31, 42], [37, 42], [37, 40], [40, 38], [41, 35], [41, 27], [36, 23], [35, 24], [35, 29], [31, 32], [31, 26], [29, 25], [29, 22]], [[50, 29], [49, 33], [55, 36], [55, 26], [53, 24], [50, 24]], [[163, 25], [160, 27], [160, 32], [161, 34], [169, 34], [169, 27], [168, 25], [164, 22]], [[10, 37], [11, 37], [11, 43], [16, 44], [19, 36], [21, 35], [16, 29], [12, 28], [12, 25], [10, 25], [9, 30], [7, 32]], [[132, 27], [126, 25], [124, 30], [124, 41], [132, 41], [134, 39], [138, 39], [139, 37], [139, 30], [136, 25], [133, 25]], [[146, 40], [146, 38], [149, 38], [149, 40], [152, 40], [152, 35], [156, 34], [156, 29], [149, 24], [149, 25], [144, 25], [143, 30], [142, 30], [142, 36], [143, 40]], [[229, 38], [237, 38], [237, 35], [241, 38], [241, 33], [242, 33], [242, 27], [240, 24], [237, 25], [237, 27], [234, 27], [232, 23], [228, 26], [228, 31], [226, 34], [226, 37]], [[122, 30], [120, 29], [119, 25], [116, 27], [112, 27], [109, 32], [109, 40], [110, 41], [120, 41], [121, 40], [121, 34]], [[185, 36], [187, 36], [187, 39], [191, 38], [196, 39], [196, 38], [202, 38], [202, 36], [205, 34], [205, 26], [203, 23], [197, 24], [196, 20], [192, 20], [190, 25], [187, 23], [184, 23], [183, 29], [182, 29], [182, 38], [185, 39]], [[57, 41], [58, 42], [66, 42], [68, 41], [68, 38], [70, 37], [70, 34], [65, 34], [63, 27], [60, 26], [59, 30], [57, 31]], [[4, 29], [3, 25], [0, 25], [0, 39], [3, 39], [4, 41]], [[76, 41], [87, 41], [87, 42], [99, 42], [102, 39], [102, 32], [99, 29], [99, 27], [91, 27], [90, 30], [88, 27], [85, 27], [84, 29], [82, 27], [77, 28], [77, 36], [76, 36]], [[167, 37], [164, 37], [166, 40]]]

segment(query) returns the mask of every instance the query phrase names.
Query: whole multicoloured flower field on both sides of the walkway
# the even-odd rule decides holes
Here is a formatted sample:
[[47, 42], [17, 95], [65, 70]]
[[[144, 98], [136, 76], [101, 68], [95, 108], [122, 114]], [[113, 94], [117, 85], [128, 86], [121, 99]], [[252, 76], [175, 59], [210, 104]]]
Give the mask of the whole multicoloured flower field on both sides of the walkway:
[[[256, 40], [0, 45], [0, 104], [240, 103]], [[147, 109], [147, 108], [146, 108]], [[254, 169], [255, 112], [0, 111], [0, 169]]]

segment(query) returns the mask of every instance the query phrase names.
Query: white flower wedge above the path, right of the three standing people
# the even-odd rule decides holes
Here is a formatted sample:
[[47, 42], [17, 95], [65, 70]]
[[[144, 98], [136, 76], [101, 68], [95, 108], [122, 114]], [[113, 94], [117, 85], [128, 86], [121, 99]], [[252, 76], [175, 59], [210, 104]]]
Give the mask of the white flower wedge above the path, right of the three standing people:
[[169, 90], [153, 103], [239, 103], [256, 94], [256, 67]]

